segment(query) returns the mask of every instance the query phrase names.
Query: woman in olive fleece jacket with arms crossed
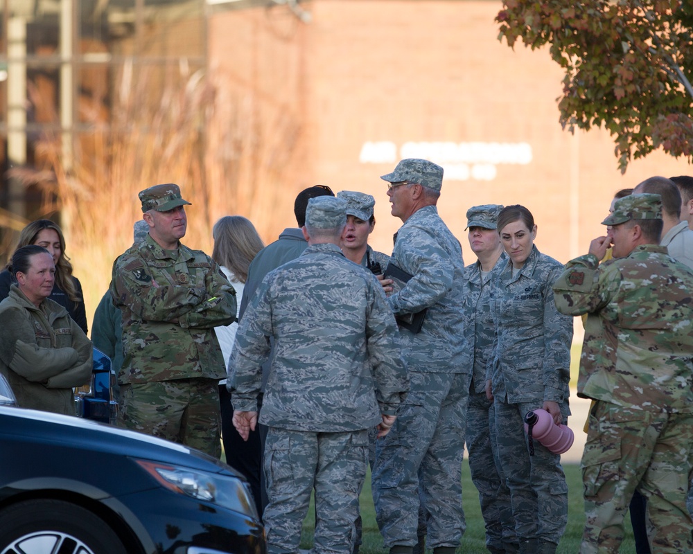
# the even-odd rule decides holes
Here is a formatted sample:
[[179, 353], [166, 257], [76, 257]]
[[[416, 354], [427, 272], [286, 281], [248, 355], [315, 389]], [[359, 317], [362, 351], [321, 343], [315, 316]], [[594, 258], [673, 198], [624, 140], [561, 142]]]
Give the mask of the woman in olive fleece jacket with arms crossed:
[[12, 255], [15, 284], [0, 303], [0, 373], [23, 408], [75, 415], [72, 388], [91, 375], [91, 341], [49, 299], [53, 256], [30, 244]]

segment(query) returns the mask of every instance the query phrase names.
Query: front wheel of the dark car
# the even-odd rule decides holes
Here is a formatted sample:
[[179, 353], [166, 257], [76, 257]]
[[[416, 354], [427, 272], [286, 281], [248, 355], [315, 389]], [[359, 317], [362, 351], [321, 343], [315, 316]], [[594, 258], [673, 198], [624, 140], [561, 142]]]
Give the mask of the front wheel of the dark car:
[[127, 554], [99, 517], [69, 502], [29, 500], [0, 511], [0, 554]]

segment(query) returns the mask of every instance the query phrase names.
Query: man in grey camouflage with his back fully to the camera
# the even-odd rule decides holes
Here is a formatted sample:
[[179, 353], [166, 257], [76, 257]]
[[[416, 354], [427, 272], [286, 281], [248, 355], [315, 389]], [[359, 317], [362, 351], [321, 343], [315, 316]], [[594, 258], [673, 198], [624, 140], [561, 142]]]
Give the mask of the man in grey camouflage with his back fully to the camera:
[[257, 422], [261, 364], [270, 374], [260, 422], [269, 427], [264, 470], [269, 554], [295, 554], [315, 490], [314, 553], [351, 554], [366, 475], [368, 430], [387, 433], [407, 373], [378, 280], [337, 244], [345, 202], [310, 199], [308, 248], [265, 277], [240, 321], [229, 382], [243, 438]]

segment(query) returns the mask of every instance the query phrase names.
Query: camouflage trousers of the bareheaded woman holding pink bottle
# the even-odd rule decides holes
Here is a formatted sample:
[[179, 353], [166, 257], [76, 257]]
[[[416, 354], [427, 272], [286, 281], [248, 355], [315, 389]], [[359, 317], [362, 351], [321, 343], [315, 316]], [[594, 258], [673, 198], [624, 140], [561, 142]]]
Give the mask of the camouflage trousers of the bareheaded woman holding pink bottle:
[[[498, 458], [510, 489], [518, 539], [559, 544], [568, 524], [568, 483], [561, 456], [538, 440], [534, 440], [534, 456], [530, 456], [525, 433], [525, 414], [541, 406], [543, 402], [509, 404], [495, 397]], [[563, 413], [565, 408], [561, 406]]]

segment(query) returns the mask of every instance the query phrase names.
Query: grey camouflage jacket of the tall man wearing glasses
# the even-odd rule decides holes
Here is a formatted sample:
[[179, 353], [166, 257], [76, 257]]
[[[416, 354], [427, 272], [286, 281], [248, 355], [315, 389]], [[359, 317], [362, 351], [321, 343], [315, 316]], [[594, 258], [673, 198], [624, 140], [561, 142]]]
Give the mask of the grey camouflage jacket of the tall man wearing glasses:
[[[435, 206], [414, 212], [397, 231], [392, 262], [412, 278], [387, 297], [395, 314], [428, 308], [421, 332], [402, 328], [402, 356], [410, 370], [469, 373], [464, 341], [462, 247]], [[385, 269], [385, 268], [383, 268]]]

